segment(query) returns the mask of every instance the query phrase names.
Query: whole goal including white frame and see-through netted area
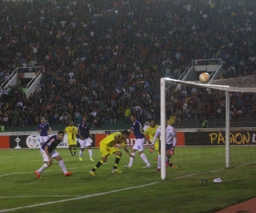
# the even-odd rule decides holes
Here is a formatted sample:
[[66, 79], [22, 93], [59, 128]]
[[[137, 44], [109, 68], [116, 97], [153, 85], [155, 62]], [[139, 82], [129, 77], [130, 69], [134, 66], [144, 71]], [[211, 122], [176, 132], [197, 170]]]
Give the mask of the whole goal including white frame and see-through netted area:
[[[166, 116], [177, 133], [171, 162], [182, 171], [179, 175], [203, 179], [226, 168], [242, 173], [255, 168], [256, 75], [206, 84], [161, 78], [161, 126]], [[161, 147], [165, 138], [165, 128], [161, 128]], [[165, 150], [161, 155], [165, 156]], [[166, 168], [165, 161], [161, 157], [162, 180], [175, 171]]]

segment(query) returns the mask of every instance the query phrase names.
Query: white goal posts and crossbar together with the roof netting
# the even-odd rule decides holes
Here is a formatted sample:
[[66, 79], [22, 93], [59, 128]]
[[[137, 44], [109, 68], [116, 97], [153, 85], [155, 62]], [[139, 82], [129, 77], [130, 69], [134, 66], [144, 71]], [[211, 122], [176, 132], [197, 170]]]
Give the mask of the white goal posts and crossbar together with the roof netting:
[[[160, 80], [160, 91], [161, 91], [161, 126], [165, 127], [166, 119], [166, 93], [168, 84], [173, 84], [175, 87], [178, 85], [192, 86], [197, 88], [205, 88], [206, 90], [222, 90], [225, 94], [225, 112], [223, 111], [223, 116], [225, 116], [225, 168], [230, 168], [230, 92], [237, 92], [239, 94], [256, 92], [256, 75], [212, 80], [211, 84], [201, 83], [200, 81], [181, 81], [176, 79], [171, 79], [168, 77], [162, 77]], [[205, 91], [206, 91], [205, 90]], [[223, 98], [224, 99], [224, 98]], [[255, 98], [256, 99], [256, 98]], [[223, 109], [224, 110], [224, 109]], [[238, 124], [239, 125], [239, 124]], [[239, 126], [240, 129], [244, 127], [242, 124]], [[176, 128], [175, 128], [176, 129]], [[255, 128], [250, 128], [254, 130]], [[165, 147], [166, 147], [166, 128], [161, 128], [161, 179], [166, 179], [166, 166], [165, 166]], [[179, 140], [179, 138], [178, 138]], [[184, 139], [185, 140], [185, 139]], [[253, 139], [254, 140], [254, 139]], [[178, 154], [177, 154], [178, 155]]]

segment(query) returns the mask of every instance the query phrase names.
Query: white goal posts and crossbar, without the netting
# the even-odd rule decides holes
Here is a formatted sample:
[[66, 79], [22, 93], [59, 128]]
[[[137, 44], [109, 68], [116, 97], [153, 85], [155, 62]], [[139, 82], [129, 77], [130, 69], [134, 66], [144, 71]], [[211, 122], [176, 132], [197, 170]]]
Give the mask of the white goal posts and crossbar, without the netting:
[[[220, 85], [211, 85], [211, 84], [200, 84], [200, 83], [195, 83], [195, 82], [189, 82], [189, 81], [180, 81], [180, 80], [175, 80], [171, 78], [166, 78], [162, 77], [160, 79], [160, 92], [161, 92], [161, 126], [165, 127], [165, 119], [166, 119], [166, 111], [165, 111], [165, 106], [166, 106], [166, 101], [165, 101], [165, 85], [166, 81], [173, 81], [178, 84], [183, 83], [183, 84], [192, 84], [192, 85], [197, 85], [197, 86], [202, 86], [206, 88], [213, 88], [213, 89], [219, 89], [219, 90], [225, 90], [226, 91], [226, 111], [225, 111], [225, 165], [226, 168], [229, 168], [229, 163], [230, 163], [230, 152], [229, 152], [229, 132], [230, 132], [230, 125], [229, 125], [229, 91], [236, 91], [237, 88], [232, 88], [229, 86], [220, 86]], [[237, 89], [238, 91], [241, 91], [241, 88]], [[252, 91], [251, 91], [252, 92]], [[165, 142], [166, 142], [166, 128], [161, 128], [161, 156], [165, 156], [166, 153], [166, 148], [165, 148]], [[165, 157], [161, 157], [161, 180], [166, 179], [166, 166], [165, 166]]]

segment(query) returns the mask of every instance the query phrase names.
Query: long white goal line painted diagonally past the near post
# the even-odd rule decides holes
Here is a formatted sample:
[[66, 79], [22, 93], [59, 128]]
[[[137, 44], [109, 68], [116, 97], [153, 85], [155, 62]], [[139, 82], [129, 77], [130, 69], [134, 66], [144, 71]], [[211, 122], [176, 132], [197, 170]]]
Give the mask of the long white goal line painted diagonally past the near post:
[[[234, 168], [242, 167], [242, 166], [245, 166], [245, 165], [248, 165], [248, 164], [251, 164], [251, 163], [256, 163], [256, 161], [249, 162], [249, 163], [244, 163], [244, 164], [238, 165], [238, 166], [236, 166]], [[184, 177], [193, 176], [193, 175], [196, 175], [196, 174], [204, 174], [204, 173], [222, 171], [224, 169], [225, 168], [220, 168], [220, 169], [216, 169], [216, 170], [198, 172], [198, 173], [193, 173], [193, 174], [186, 174], [186, 175], [182, 175], [182, 176], [179, 176], [179, 177], [171, 178], [170, 180], [176, 180], [176, 179], [180, 179], [180, 178], [184, 178]], [[71, 198], [71, 199], [56, 200], [56, 201], [51, 201], [51, 202], [46, 202], [46, 203], [39, 203], [39, 204], [25, 206], [25, 207], [16, 207], [16, 208], [3, 209], [3, 210], [0, 210], [0, 212], [14, 211], [14, 210], [23, 209], [23, 208], [39, 207], [39, 206], [45, 206], [45, 205], [49, 205], [49, 204], [61, 203], [61, 202], [72, 201], [72, 200], [81, 200], [81, 199], [84, 199], [84, 198], [90, 198], [90, 197], [95, 197], [95, 196], [100, 196], [100, 195], [105, 195], [105, 194], [110, 194], [110, 193], [115, 193], [115, 192], [121, 192], [121, 191], [129, 190], [129, 189], [148, 187], [148, 186], [160, 183], [160, 182], [162, 182], [162, 181], [156, 181], [156, 182], [152, 182], [152, 183], [148, 183], [148, 184], [143, 184], [143, 185], [135, 186], [135, 187], [121, 188], [121, 189], [117, 189], [117, 190], [113, 190], [113, 191], [109, 191], [109, 192], [102, 192], [102, 193], [97, 193], [97, 194], [89, 194], [89, 195], [85, 195], [85, 196], [81, 196], [81, 197], [76, 197], [76, 198]], [[14, 196], [14, 197], [16, 197], [16, 196]]]

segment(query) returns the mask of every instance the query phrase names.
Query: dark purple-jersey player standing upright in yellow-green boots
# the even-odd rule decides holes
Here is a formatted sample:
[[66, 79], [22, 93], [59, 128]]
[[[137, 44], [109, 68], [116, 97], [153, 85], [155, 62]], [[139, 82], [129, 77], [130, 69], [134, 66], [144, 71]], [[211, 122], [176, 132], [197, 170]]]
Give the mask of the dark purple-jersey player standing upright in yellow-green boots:
[[78, 142], [80, 143], [81, 149], [79, 151], [79, 160], [82, 161], [82, 154], [84, 149], [87, 147], [89, 156], [90, 156], [90, 161], [94, 161], [93, 159], [93, 150], [91, 146], [91, 141], [90, 137], [93, 137], [90, 133], [90, 124], [87, 121], [87, 116], [83, 116], [83, 119], [81, 123], [78, 124], [77, 127], [77, 133], [79, 135]]

